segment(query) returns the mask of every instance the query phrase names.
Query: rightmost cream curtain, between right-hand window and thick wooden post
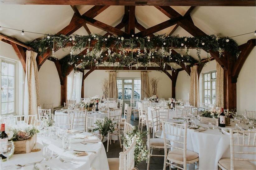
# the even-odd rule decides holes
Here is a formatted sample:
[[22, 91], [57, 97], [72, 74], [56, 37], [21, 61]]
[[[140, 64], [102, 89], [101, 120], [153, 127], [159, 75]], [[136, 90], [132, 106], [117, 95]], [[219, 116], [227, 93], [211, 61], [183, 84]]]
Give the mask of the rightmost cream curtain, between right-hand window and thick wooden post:
[[224, 107], [224, 70], [216, 63], [216, 107]]

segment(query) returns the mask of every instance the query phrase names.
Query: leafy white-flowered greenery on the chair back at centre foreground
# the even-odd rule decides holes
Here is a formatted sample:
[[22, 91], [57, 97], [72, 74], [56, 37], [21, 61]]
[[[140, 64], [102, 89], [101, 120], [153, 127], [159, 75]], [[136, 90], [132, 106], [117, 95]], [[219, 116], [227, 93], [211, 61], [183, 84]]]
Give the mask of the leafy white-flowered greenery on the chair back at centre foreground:
[[138, 127], [134, 128], [133, 131], [130, 133], [127, 133], [125, 136], [123, 136], [123, 145], [125, 148], [129, 148], [132, 139], [135, 139], [136, 144], [135, 144], [135, 150], [134, 150], [134, 157], [135, 157], [135, 165], [138, 165], [141, 161], [144, 161], [147, 159], [148, 155], [148, 150], [147, 150], [147, 145], [143, 141], [143, 138], [147, 135], [147, 132], [140, 132], [138, 130]]

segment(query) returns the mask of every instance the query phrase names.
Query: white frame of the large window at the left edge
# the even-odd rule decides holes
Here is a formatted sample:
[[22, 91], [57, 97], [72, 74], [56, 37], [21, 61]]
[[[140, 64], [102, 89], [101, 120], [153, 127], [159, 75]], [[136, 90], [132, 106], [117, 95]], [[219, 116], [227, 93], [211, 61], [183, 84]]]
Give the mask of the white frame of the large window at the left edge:
[[6, 61], [7, 63], [12, 63], [14, 64], [14, 110], [12, 113], [7, 113], [7, 114], [2, 114], [2, 86], [1, 86], [1, 93], [0, 93], [0, 115], [17, 115], [17, 112], [18, 112], [18, 99], [19, 99], [19, 91], [18, 91], [18, 83], [19, 83], [19, 80], [18, 80], [18, 62], [16, 60], [11, 60], [11, 59], [8, 59], [6, 57], [2, 57], [0, 56], [0, 85], [2, 84], [2, 61]]

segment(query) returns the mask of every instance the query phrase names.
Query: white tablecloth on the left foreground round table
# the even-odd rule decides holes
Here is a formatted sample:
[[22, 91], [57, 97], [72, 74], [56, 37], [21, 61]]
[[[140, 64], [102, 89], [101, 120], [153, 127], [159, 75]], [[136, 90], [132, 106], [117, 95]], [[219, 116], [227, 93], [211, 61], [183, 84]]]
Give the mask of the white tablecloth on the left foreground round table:
[[[83, 132], [80, 133], [83, 135], [89, 135], [89, 133]], [[37, 140], [37, 147], [41, 150], [39, 152], [31, 152], [28, 154], [15, 154], [9, 159], [9, 164], [13, 165], [14, 168], [18, 168], [15, 166], [15, 164], [26, 164], [26, 163], [32, 163], [37, 162], [43, 159], [43, 145], [41, 144], [41, 137], [38, 135]], [[107, 162], [107, 155], [105, 152], [105, 148], [100, 140], [98, 140], [99, 143], [95, 144], [87, 144], [83, 145], [81, 143], [72, 143], [70, 151], [73, 150], [84, 150], [84, 151], [96, 151], [97, 153], [95, 155], [89, 156], [88, 160], [84, 160], [83, 162], [75, 162], [79, 165], [74, 165], [72, 163], [62, 163], [58, 158], [53, 158], [49, 161], [43, 160], [38, 166], [40, 170], [45, 169], [45, 165], [48, 165], [52, 170], [55, 169], [109, 169], [108, 162]], [[35, 147], [34, 147], [35, 148]], [[52, 143], [48, 146], [53, 151], [62, 150], [62, 141], [60, 139], [58, 140], [52, 140]], [[5, 163], [3, 163], [5, 166]], [[33, 165], [29, 165], [26, 167], [23, 167], [22, 169], [33, 169]], [[22, 170], [21, 169], [21, 170]]]

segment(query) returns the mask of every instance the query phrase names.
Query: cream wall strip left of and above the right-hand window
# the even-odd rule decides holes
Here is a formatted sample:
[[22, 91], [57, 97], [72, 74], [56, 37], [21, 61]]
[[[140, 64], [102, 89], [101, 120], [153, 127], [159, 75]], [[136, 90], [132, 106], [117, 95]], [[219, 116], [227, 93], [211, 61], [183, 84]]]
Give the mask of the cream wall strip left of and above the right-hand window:
[[212, 60], [203, 67], [201, 74], [199, 76], [198, 80], [198, 96], [199, 96], [199, 102], [203, 103], [203, 74], [207, 73], [209, 71], [216, 70], [216, 60]]

